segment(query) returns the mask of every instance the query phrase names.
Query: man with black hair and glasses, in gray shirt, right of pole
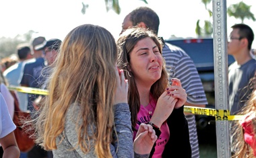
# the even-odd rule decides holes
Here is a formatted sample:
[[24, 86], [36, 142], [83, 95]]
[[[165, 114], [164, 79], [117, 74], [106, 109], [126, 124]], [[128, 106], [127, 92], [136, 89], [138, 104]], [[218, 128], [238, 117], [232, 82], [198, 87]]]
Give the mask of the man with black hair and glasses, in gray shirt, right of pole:
[[228, 67], [228, 92], [230, 114], [236, 114], [244, 106], [251, 90], [249, 80], [255, 75], [256, 61], [250, 51], [253, 30], [245, 24], [235, 24], [228, 38], [228, 54], [234, 56], [234, 63]]

